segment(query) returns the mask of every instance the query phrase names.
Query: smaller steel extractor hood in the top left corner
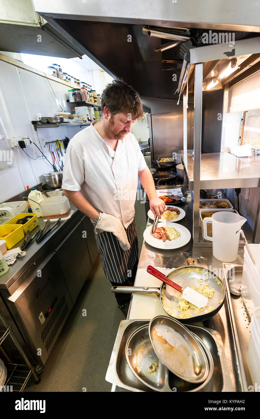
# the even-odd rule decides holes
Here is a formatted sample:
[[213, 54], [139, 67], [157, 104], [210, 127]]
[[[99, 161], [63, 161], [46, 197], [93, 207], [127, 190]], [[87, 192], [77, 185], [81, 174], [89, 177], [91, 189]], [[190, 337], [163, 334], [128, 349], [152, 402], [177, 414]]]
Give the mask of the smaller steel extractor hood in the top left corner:
[[64, 58], [83, 55], [35, 12], [32, 0], [1, 0], [0, 51]]

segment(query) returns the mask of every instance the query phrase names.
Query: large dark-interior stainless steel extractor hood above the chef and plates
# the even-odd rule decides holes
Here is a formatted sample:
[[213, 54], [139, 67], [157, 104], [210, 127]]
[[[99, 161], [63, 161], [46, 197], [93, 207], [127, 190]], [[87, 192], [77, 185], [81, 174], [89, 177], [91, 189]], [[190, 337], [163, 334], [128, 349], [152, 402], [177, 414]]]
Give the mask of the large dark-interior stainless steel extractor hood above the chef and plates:
[[236, 1], [235, 10], [233, 0], [210, 5], [208, 0], [33, 3], [37, 13], [100, 67], [122, 77], [141, 96], [154, 98], [178, 99], [178, 60], [205, 45], [205, 31], [236, 31], [236, 40], [260, 32], [257, 1], [247, 3], [246, 13], [243, 0]]

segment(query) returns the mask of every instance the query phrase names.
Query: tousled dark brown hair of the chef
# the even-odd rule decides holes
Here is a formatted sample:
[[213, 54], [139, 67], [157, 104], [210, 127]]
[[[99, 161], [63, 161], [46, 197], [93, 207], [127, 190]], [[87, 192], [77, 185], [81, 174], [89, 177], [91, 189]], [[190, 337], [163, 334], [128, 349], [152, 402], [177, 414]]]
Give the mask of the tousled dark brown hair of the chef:
[[102, 111], [104, 111], [105, 106], [107, 106], [112, 116], [123, 112], [131, 114], [132, 119], [137, 119], [143, 115], [143, 105], [139, 93], [122, 79], [113, 80], [103, 91], [101, 98]]

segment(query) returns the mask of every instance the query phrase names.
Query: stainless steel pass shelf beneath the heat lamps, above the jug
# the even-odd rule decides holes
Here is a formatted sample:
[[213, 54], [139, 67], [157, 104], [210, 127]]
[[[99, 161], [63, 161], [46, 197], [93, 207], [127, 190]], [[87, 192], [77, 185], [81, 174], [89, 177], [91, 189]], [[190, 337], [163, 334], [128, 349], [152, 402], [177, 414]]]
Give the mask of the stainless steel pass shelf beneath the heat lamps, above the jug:
[[[184, 160], [184, 157], [182, 156]], [[184, 161], [183, 161], [184, 163]], [[184, 171], [189, 189], [194, 189], [194, 160], [187, 155]], [[260, 186], [260, 170], [229, 153], [201, 155], [200, 189], [254, 188]]]

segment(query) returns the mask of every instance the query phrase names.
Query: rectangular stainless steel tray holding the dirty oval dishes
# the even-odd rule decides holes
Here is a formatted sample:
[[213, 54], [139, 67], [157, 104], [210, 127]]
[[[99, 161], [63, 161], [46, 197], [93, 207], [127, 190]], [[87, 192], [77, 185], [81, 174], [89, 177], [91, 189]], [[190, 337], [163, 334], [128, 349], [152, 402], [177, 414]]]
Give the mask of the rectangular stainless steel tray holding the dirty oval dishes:
[[[135, 377], [125, 358], [125, 345], [130, 335], [140, 326], [148, 324], [147, 320], [122, 320], [115, 339], [115, 345], [107, 369], [106, 380], [119, 388], [128, 391], [153, 391], [148, 386], [141, 383]], [[202, 389], [206, 392], [233, 391], [232, 382], [229, 375], [229, 368], [224, 354], [224, 347], [220, 334], [217, 331], [199, 326], [187, 326], [197, 334], [204, 344], [209, 348], [214, 362], [214, 372], [212, 379]], [[168, 383], [176, 391], [196, 391], [198, 385], [181, 381], [178, 377], [168, 374]]]

